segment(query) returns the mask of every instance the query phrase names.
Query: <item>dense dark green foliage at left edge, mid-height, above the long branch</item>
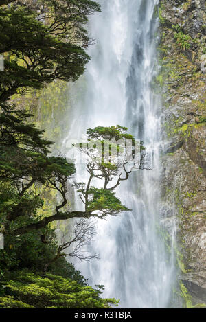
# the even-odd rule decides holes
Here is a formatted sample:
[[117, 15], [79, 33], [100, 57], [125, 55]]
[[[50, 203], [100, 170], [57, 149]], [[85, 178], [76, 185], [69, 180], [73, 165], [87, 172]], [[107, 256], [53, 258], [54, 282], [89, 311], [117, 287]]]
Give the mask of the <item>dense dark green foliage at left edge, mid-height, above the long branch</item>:
[[[30, 188], [35, 183], [66, 185], [75, 172], [73, 163], [63, 157], [48, 157], [52, 142], [43, 139], [43, 131], [27, 124], [30, 117], [23, 111], [5, 110], [0, 115], [0, 179], [7, 186], [1, 191], [1, 220], [3, 233], [10, 233], [10, 223], [23, 216], [31, 221], [42, 200]], [[53, 187], [60, 190], [61, 187]], [[56, 206], [58, 211], [58, 206]], [[33, 220], [35, 221], [35, 220]], [[16, 224], [17, 225], [17, 224]], [[18, 226], [17, 226], [18, 227]]]

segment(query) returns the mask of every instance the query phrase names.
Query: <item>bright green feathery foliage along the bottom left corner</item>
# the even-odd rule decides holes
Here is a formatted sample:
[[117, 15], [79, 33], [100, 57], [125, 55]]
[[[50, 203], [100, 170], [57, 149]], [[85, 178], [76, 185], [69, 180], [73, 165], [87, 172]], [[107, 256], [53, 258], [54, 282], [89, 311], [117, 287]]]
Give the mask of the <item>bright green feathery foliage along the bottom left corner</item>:
[[100, 291], [60, 276], [18, 271], [3, 282], [1, 308], [109, 308], [115, 299], [101, 299]]

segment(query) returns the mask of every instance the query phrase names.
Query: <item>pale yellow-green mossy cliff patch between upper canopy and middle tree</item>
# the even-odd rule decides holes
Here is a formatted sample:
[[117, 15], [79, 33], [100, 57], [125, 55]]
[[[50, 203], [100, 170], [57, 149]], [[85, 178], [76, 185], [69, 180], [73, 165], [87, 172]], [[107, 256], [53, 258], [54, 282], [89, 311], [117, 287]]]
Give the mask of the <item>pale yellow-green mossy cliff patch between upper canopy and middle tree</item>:
[[65, 133], [69, 123], [69, 90], [67, 82], [56, 80], [41, 91], [12, 97], [17, 107], [24, 106], [34, 115], [31, 121], [41, 130], [45, 130], [45, 138], [54, 141], [53, 148], [58, 150], [62, 133]]

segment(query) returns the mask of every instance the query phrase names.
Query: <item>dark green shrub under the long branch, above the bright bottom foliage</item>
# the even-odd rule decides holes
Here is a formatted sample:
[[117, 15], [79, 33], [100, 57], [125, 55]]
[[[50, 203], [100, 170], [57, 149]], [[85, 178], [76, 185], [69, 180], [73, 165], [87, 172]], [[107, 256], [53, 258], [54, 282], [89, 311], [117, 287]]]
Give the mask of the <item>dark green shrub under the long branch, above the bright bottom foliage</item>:
[[[46, 227], [39, 231], [32, 231], [16, 238], [5, 236], [5, 248], [0, 251], [0, 279], [8, 276], [10, 271], [27, 268], [33, 272], [45, 272], [45, 267], [56, 256], [58, 243], [54, 229]], [[82, 286], [87, 285], [80, 271], [76, 271], [73, 264], [65, 257], [59, 257], [47, 266], [47, 271], [54, 275], [69, 277]]]

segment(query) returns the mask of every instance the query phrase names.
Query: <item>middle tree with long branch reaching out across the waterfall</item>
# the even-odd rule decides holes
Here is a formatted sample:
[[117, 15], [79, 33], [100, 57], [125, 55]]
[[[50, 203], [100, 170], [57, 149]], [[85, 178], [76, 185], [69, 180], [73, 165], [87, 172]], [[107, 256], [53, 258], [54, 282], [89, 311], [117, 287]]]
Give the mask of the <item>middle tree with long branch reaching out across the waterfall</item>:
[[[16, 113], [19, 116], [18, 119], [16, 119]], [[2, 122], [0, 137], [3, 138], [3, 144], [0, 147], [0, 176], [5, 183], [10, 183], [10, 189], [13, 191], [12, 198], [14, 198], [14, 200], [10, 200], [9, 209], [7, 200], [2, 203], [2, 208], [5, 205], [5, 210], [2, 209], [2, 214], [5, 214], [5, 216], [1, 232], [22, 235], [42, 229], [49, 222], [56, 220], [70, 218], [103, 219], [108, 215], [116, 216], [122, 211], [130, 210], [122, 205], [119, 198], [115, 196], [116, 187], [121, 181], [127, 180], [131, 173], [126, 169], [127, 161], [123, 165], [109, 161], [105, 163], [102, 159], [93, 159], [91, 149], [87, 150], [87, 155], [92, 157], [91, 161], [87, 163], [89, 179], [87, 183], [74, 183], [80, 193], [84, 210], [76, 211], [66, 208], [69, 201], [68, 180], [76, 172], [75, 166], [73, 163], [68, 163], [63, 157], [48, 157], [47, 147], [51, 142], [45, 141], [41, 137], [41, 131], [38, 131], [33, 125], [27, 126], [23, 120], [26, 114], [21, 115], [21, 113], [19, 111], [13, 111], [13, 113], [6, 111], [0, 118]], [[27, 131], [28, 128], [29, 131]], [[119, 138], [124, 140], [133, 138], [126, 133], [126, 130], [121, 126], [95, 128], [89, 129], [87, 135], [89, 139], [95, 136], [100, 143], [108, 137], [108, 132], [110, 139], [113, 138], [115, 141]], [[102, 150], [98, 153], [101, 154]], [[139, 168], [141, 168], [141, 165], [139, 165]], [[119, 171], [120, 174], [117, 176]], [[122, 172], [125, 176], [122, 176]], [[92, 185], [93, 179], [100, 179], [103, 182], [103, 187]], [[35, 215], [36, 208], [39, 207], [41, 200], [40, 196], [31, 190], [34, 183], [44, 184], [60, 195], [61, 201], [56, 205], [52, 216], [40, 218]], [[108, 185], [108, 183], [113, 184]], [[24, 218], [23, 223], [22, 218]]]

